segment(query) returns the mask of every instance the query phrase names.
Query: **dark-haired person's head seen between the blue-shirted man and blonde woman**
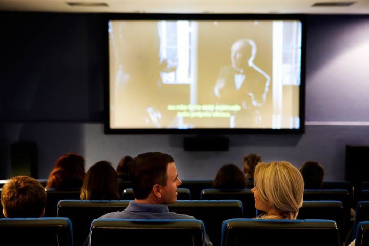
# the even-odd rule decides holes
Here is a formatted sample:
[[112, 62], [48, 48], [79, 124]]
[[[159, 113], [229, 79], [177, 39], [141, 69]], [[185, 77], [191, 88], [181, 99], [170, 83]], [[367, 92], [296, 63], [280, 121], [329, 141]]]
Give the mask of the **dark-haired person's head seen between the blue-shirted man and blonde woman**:
[[241, 171], [234, 164], [226, 164], [221, 167], [214, 179], [213, 188], [216, 189], [244, 189], [246, 179]]

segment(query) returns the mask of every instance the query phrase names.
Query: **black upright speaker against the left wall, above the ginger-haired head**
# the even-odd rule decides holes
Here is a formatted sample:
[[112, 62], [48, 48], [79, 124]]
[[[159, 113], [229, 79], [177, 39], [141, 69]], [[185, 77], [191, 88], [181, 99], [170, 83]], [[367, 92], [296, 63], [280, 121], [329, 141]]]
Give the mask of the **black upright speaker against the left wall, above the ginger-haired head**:
[[38, 149], [36, 142], [13, 142], [10, 145], [12, 176], [38, 178]]

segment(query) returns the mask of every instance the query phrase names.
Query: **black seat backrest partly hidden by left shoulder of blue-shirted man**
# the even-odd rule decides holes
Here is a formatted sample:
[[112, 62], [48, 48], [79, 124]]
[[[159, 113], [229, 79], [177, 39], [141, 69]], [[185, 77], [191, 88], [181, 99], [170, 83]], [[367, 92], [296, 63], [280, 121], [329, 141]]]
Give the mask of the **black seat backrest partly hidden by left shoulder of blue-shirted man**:
[[57, 216], [67, 217], [73, 225], [74, 244], [82, 245], [94, 219], [110, 212], [127, 208], [128, 200], [61, 200], [57, 206]]

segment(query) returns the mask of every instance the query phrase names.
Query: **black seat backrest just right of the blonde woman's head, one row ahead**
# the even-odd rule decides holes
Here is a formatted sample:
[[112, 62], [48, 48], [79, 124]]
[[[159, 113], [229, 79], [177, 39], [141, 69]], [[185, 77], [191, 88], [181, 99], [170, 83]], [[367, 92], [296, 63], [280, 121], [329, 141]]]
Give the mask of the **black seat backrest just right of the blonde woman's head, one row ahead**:
[[344, 240], [345, 217], [340, 201], [303, 201], [298, 219], [327, 219], [336, 222], [340, 239]]

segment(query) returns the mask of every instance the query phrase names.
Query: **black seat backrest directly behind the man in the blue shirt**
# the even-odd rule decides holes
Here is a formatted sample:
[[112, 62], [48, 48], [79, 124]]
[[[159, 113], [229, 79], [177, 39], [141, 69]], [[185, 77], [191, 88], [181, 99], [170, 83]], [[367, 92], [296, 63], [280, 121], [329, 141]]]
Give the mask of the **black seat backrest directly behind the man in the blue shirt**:
[[204, 226], [196, 219], [96, 219], [91, 224], [91, 246], [183, 245], [203, 246]]

